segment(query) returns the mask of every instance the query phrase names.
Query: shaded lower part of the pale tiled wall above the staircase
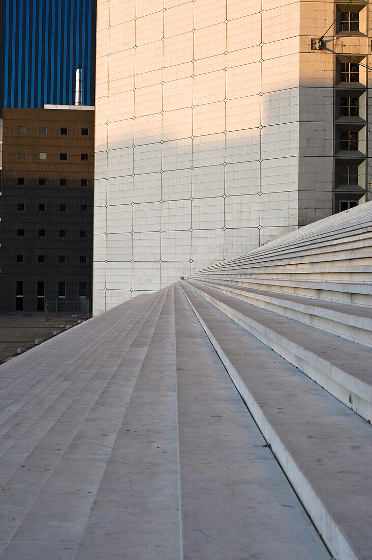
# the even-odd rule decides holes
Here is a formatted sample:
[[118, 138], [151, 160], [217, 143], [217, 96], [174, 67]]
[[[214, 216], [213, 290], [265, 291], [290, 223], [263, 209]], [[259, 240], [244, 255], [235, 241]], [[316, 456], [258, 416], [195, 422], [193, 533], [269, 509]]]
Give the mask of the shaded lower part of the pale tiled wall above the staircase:
[[[252, 96], [248, 116], [236, 106], [228, 127], [244, 113], [249, 129], [197, 136], [190, 108], [109, 123], [109, 144], [98, 130], [94, 283], [106, 308], [293, 231], [299, 188], [311, 190], [310, 216], [332, 213], [333, 122], [323, 108], [300, 130], [300, 89], [316, 115], [316, 88], [290, 88]], [[197, 132], [227, 126], [215, 121]]]

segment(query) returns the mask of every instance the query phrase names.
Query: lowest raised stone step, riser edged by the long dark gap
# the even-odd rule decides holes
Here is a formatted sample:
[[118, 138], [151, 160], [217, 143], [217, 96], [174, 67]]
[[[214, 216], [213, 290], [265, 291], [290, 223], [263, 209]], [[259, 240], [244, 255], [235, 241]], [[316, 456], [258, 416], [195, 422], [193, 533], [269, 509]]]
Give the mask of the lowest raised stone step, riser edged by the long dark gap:
[[[202, 293], [189, 283], [181, 286], [333, 557], [369, 559], [368, 423], [210, 305], [206, 288]], [[228, 296], [218, 297], [224, 298], [227, 307]], [[238, 304], [243, 315], [248, 304]]]

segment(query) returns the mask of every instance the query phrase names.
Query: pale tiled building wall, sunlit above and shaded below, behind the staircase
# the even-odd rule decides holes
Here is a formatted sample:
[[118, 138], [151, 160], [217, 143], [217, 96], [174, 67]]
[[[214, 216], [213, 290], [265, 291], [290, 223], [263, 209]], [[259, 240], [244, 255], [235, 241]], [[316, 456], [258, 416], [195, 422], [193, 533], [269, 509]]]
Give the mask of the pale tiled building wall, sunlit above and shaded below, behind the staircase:
[[95, 313], [332, 213], [333, 0], [97, 10]]

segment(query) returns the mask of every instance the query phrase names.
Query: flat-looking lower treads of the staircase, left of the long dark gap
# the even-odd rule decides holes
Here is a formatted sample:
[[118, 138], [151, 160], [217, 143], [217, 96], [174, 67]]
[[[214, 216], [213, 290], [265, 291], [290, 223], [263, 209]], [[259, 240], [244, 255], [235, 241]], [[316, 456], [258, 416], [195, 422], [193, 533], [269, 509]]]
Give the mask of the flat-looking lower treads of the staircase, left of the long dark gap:
[[180, 288], [135, 300], [0, 367], [1, 558], [328, 558]]

